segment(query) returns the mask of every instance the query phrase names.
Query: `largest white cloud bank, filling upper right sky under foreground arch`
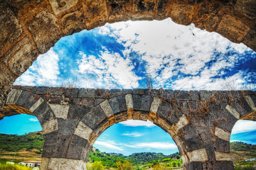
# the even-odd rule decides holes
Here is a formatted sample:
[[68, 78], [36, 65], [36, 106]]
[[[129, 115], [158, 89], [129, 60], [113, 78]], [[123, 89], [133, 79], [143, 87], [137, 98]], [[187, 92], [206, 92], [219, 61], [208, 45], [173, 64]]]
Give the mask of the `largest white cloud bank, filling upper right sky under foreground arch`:
[[[127, 49], [123, 52], [128, 57], [132, 51], [141, 55], [141, 60], [146, 62], [146, 73], [156, 82], [156, 89], [165, 86], [183, 90], [220, 90], [225, 81], [238, 77], [239, 86], [245, 83], [246, 73], [239, 72], [227, 78], [223, 69], [233, 69], [241, 58], [239, 54], [250, 48], [230, 42], [218, 33], [195, 28], [193, 24], [181, 26], [170, 18], [127, 21], [107, 24], [99, 33], [108, 33], [117, 38], [117, 42], [124, 42]], [[238, 53], [226, 55], [226, 52]], [[212, 63], [206, 66], [207, 62]]]

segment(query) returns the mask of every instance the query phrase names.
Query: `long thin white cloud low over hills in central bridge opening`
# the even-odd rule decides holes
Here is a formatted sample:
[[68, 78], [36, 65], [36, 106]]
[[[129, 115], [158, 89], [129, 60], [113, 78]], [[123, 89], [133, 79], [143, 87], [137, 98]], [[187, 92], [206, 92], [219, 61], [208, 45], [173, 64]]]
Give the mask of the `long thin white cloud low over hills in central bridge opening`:
[[126, 145], [126, 147], [132, 148], [154, 148], [154, 149], [176, 149], [177, 146], [174, 143], [169, 142], [142, 142], [142, 143], [134, 143], [132, 145]]

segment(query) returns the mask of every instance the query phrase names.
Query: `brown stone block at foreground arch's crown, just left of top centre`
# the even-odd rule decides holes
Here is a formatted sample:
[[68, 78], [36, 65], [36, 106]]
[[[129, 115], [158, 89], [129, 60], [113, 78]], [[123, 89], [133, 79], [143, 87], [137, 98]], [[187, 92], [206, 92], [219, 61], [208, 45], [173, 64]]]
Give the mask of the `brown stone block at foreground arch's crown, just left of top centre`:
[[125, 21], [132, 16], [132, 0], [109, 0], [107, 8], [109, 21]]

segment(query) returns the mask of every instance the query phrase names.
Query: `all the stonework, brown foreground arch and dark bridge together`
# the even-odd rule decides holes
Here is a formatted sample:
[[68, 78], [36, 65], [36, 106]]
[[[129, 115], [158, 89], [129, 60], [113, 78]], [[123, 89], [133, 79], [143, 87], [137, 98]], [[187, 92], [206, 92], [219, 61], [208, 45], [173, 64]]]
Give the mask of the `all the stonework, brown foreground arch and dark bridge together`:
[[230, 131], [238, 119], [255, 120], [255, 92], [11, 90], [38, 55], [65, 35], [107, 22], [169, 17], [256, 50], [255, 0], [0, 0], [0, 117], [37, 116], [46, 139], [44, 169], [82, 169], [97, 136], [131, 118], [149, 119], [169, 132], [184, 169], [233, 169], [227, 156]]

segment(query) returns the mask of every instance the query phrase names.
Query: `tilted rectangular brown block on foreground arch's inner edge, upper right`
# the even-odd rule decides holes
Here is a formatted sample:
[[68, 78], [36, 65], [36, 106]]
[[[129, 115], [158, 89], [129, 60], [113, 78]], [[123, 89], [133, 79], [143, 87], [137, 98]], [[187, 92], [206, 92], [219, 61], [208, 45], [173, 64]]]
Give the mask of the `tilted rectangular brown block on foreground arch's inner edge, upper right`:
[[216, 32], [228, 38], [228, 40], [238, 43], [245, 38], [249, 30], [250, 28], [245, 23], [242, 23], [242, 21], [233, 16], [225, 15], [220, 21]]

